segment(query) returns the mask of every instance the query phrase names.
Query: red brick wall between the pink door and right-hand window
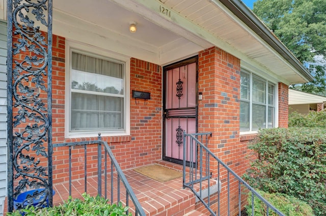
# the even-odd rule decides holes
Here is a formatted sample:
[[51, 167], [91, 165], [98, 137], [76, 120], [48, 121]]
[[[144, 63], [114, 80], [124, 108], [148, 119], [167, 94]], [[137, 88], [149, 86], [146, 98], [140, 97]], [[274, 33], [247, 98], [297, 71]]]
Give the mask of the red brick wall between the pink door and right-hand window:
[[[203, 100], [198, 103], [198, 129], [212, 132], [209, 148], [238, 175], [248, 168], [247, 142], [240, 142], [240, 60], [229, 53], [212, 47], [199, 53], [198, 90]], [[217, 164], [211, 163], [213, 177]], [[227, 211], [227, 172], [221, 168], [221, 213]], [[238, 212], [237, 182], [231, 177], [231, 214]], [[214, 204], [217, 210], [217, 203]]]

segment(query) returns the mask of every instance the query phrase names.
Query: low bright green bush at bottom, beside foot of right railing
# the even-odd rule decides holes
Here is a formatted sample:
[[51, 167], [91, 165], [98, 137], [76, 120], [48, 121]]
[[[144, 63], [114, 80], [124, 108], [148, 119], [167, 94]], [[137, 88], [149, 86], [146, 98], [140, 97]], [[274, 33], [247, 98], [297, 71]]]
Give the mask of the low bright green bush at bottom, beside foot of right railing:
[[[263, 191], [257, 191], [261, 196], [263, 196], [270, 204], [276, 207], [285, 215], [289, 216], [312, 216], [313, 210], [306, 202], [298, 200], [293, 196], [287, 196], [285, 194], [269, 194]], [[251, 193], [248, 196], [247, 214], [252, 215], [252, 197]], [[270, 216], [277, 216], [273, 210], [269, 209]], [[254, 215], [255, 216], [265, 216], [267, 215], [266, 205], [256, 196], [254, 197]]]

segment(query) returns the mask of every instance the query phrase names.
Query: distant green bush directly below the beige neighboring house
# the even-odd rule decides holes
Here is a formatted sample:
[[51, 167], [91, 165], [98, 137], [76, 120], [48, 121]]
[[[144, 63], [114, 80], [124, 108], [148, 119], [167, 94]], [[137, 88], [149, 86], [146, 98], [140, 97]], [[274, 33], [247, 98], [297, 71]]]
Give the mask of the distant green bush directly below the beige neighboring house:
[[289, 114], [289, 127], [326, 128], [326, 111]]

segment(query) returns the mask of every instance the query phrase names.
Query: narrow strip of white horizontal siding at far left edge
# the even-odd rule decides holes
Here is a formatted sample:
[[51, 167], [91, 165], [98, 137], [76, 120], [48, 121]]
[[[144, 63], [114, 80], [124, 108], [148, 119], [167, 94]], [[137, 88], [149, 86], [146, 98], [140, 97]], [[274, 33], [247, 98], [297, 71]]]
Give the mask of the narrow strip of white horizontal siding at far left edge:
[[7, 23], [0, 20], [0, 216], [7, 194]]

